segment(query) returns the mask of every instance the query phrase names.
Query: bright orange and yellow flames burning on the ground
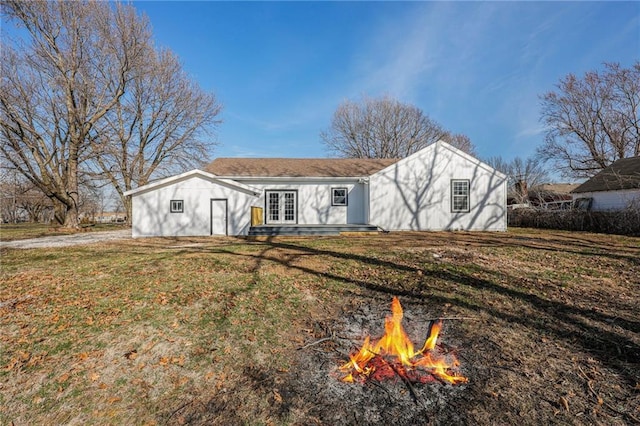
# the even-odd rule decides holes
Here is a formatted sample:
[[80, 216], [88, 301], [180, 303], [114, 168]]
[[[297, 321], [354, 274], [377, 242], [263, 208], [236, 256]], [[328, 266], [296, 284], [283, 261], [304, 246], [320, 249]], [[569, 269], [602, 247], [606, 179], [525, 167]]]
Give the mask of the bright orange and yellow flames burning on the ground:
[[385, 319], [385, 334], [375, 343], [367, 336], [362, 348], [350, 355], [350, 361], [340, 367], [347, 373], [344, 382], [364, 382], [368, 378], [384, 380], [396, 375], [412, 382], [427, 383], [441, 380], [451, 384], [465, 383], [467, 378], [456, 375], [452, 368], [459, 366], [452, 354], [439, 355], [436, 340], [442, 320], [432, 323], [429, 336], [422, 349], [415, 351], [413, 343], [402, 327], [402, 306], [397, 297], [391, 302], [392, 315]]

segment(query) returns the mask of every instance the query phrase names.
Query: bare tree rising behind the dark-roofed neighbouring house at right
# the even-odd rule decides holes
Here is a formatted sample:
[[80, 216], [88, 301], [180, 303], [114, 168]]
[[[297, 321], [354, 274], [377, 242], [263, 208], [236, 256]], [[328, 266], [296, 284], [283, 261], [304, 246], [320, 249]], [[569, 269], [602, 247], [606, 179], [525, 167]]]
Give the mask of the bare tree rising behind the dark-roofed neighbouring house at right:
[[565, 175], [591, 177], [615, 160], [640, 155], [640, 62], [570, 74], [541, 97], [548, 127], [539, 153]]

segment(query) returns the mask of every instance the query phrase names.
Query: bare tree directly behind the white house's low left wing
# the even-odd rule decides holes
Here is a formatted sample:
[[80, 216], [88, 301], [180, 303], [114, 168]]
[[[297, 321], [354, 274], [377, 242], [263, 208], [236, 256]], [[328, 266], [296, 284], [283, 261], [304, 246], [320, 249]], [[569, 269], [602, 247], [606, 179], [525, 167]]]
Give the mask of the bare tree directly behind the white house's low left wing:
[[214, 145], [221, 105], [193, 83], [170, 51], [149, 49], [129, 90], [105, 116], [88, 166], [107, 179], [131, 219], [124, 192], [201, 165]]

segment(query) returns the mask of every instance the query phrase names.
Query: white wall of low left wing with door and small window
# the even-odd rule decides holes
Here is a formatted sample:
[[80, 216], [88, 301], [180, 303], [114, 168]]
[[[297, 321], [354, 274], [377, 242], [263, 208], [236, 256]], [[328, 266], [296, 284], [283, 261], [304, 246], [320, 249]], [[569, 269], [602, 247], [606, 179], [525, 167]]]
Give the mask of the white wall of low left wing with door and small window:
[[[242, 235], [251, 225], [258, 197], [199, 176], [133, 195], [132, 236], [211, 235], [211, 199], [227, 201], [227, 233]], [[183, 213], [171, 213], [171, 200], [183, 200]]]

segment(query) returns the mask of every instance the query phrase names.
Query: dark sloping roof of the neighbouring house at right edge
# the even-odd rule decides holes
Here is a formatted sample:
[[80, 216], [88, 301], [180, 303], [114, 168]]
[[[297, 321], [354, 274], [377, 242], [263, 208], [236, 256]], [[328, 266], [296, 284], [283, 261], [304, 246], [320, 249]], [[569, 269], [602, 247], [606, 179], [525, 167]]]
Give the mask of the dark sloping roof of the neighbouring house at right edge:
[[640, 157], [623, 158], [612, 163], [571, 192], [620, 191], [624, 189], [640, 189]]

